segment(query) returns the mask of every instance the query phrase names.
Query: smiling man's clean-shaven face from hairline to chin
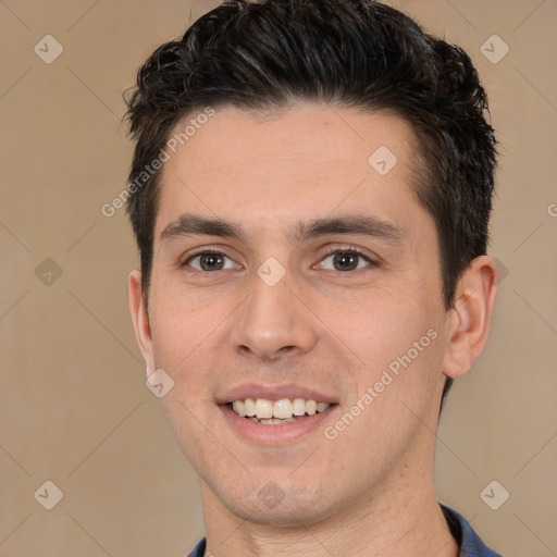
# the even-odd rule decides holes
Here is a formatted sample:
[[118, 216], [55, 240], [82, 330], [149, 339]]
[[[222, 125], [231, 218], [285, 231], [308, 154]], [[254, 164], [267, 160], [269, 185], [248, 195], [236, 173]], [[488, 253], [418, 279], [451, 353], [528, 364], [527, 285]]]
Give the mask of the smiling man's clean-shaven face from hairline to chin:
[[[411, 157], [396, 116], [299, 106], [219, 110], [165, 162], [144, 355], [174, 381], [164, 410], [213, 508], [311, 523], [429, 470], [447, 313]], [[175, 234], [185, 213], [242, 237]], [[356, 216], [367, 231], [308, 234]], [[334, 404], [256, 423], [227, 404], [246, 398]]]

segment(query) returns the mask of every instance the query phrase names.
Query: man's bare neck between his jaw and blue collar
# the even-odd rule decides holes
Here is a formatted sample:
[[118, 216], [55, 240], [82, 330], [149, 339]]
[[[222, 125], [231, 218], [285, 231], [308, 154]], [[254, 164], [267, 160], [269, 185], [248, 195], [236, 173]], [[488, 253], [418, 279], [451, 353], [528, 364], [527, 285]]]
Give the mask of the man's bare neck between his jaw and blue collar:
[[382, 483], [327, 518], [297, 528], [243, 520], [202, 482], [207, 555], [457, 557], [459, 547], [435, 497], [432, 473], [410, 474], [405, 468], [391, 478], [396, 483]]

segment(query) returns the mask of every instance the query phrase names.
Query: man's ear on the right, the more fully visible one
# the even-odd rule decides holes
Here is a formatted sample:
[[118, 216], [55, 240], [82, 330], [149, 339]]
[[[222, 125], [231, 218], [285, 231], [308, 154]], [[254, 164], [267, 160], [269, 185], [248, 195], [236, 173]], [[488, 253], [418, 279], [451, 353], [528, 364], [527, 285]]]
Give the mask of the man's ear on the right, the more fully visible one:
[[457, 379], [472, 367], [482, 352], [490, 333], [497, 292], [497, 265], [493, 258], [481, 256], [472, 260], [460, 277], [450, 310], [450, 338], [443, 372]]

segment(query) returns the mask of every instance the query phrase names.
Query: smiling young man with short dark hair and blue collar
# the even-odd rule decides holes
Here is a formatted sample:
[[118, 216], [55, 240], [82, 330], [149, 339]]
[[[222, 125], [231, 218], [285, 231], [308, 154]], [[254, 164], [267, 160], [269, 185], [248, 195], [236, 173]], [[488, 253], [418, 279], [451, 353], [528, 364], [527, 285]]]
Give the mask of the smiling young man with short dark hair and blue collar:
[[141, 67], [129, 306], [201, 480], [191, 556], [497, 555], [433, 483], [496, 290], [486, 108], [370, 0], [234, 0]]

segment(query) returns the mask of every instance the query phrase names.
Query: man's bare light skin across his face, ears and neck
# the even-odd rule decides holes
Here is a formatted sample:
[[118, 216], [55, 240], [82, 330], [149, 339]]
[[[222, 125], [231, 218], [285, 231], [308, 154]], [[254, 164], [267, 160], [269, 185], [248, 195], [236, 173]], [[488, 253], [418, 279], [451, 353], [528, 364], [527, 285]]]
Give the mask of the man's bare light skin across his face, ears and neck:
[[[129, 308], [148, 370], [175, 382], [162, 404], [201, 479], [216, 557], [458, 555], [435, 497], [432, 432], [446, 376], [463, 375], [484, 347], [497, 270], [475, 259], [445, 310], [435, 225], [410, 188], [412, 140], [385, 113], [224, 108], [164, 164], [148, 306], [134, 270]], [[368, 162], [382, 145], [398, 159], [384, 176]], [[184, 212], [235, 221], [245, 242], [161, 242]], [[308, 219], [352, 213], [393, 224], [399, 238], [289, 236]], [[343, 271], [327, 257], [350, 246], [375, 264]], [[230, 258], [225, 269], [180, 265], [208, 247]], [[270, 257], [286, 271], [272, 287], [257, 274]], [[337, 398], [334, 425], [431, 329], [435, 341], [333, 441], [319, 428], [262, 447], [215, 405], [242, 383], [301, 383]], [[270, 481], [285, 495], [273, 508], [257, 496]]]

